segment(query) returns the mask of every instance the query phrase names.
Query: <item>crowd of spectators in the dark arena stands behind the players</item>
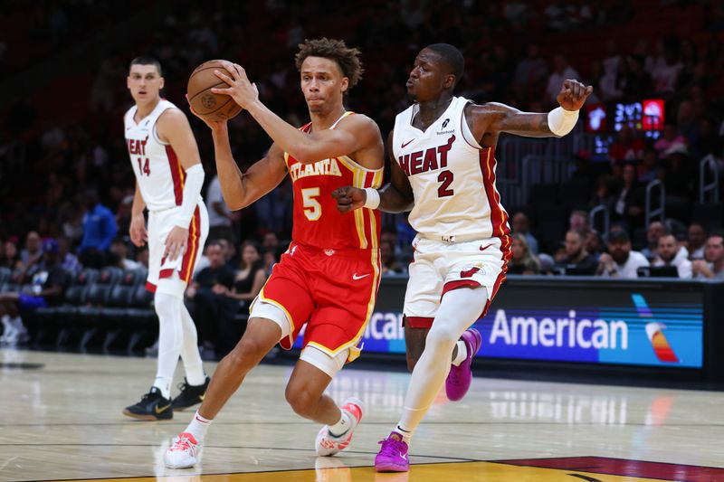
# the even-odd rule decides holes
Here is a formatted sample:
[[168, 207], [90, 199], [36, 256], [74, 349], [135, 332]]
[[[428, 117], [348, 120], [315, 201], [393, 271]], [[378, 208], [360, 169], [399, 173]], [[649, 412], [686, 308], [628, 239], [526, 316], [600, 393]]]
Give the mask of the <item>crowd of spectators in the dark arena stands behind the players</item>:
[[[36, 28], [23, 37], [19, 44], [44, 45], [27, 58], [14, 51], [14, 44], [0, 44], [0, 79], [8, 79], [8, 67], [23, 71], [33, 62], [52, 62], [53, 55], [73, 43], [92, 40], [93, 33], [75, 26], [99, 11], [120, 8], [113, 7], [114, 2], [88, 3], [97, 9], [71, 4], [76, 6], [65, 9], [52, 3], [43, 9], [10, 3], [8, 18], [52, 28], [44, 36]], [[158, 13], [158, 7], [130, 4], [121, 8], [119, 18], [128, 16], [131, 7], [139, 15], [144, 8]], [[120, 126], [130, 105], [125, 90], [130, 58], [146, 52], [156, 56], [167, 78], [168, 99], [182, 107], [187, 75], [197, 64], [214, 58], [240, 61], [262, 100], [301, 125], [307, 114], [293, 53], [304, 38], [324, 34], [344, 37], [362, 49], [366, 74], [351, 91], [349, 105], [375, 118], [385, 136], [395, 114], [408, 105], [404, 84], [414, 53], [441, 40], [458, 45], [466, 55], [458, 93], [477, 102], [544, 111], [555, 106], [557, 89], [567, 78], [594, 86], [590, 102], [665, 99], [667, 120], [660, 137], [643, 137], [624, 125], [614, 133], [605, 159], [585, 149], [571, 153], [576, 171], [570, 180], [585, 185], [586, 202], [560, 206], [560, 217], [570, 215], [565, 235], [548, 239], [547, 226], [535, 210], [508, 206], [513, 233], [509, 274], [724, 279], [722, 221], [696, 222], [691, 213], [691, 200], [699, 196], [700, 160], [709, 157], [720, 166], [719, 173], [724, 172], [724, 7], [718, 2], [511, 0], [461, 2], [452, 8], [434, 2], [373, 1], [354, 15], [343, 5], [321, 0], [305, 2], [303, 8], [268, 0], [257, 5], [261, 12], [254, 14], [242, 4], [216, 4], [224, 14], [206, 14], [207, 5], [198, 1], [176, 2], [157, 17], [153, 36], [132, 48], [124, 46], [122, 54], [108, 52], [89, 73], [90, 82], [84, 85], [90, 92], [81, 94], [85, 100], [56, 96], [58, 109], [87, 102], [76, 118], [45, 118], [30, 94], [0, 109], [5, 117], [0, 136], [0, 266], [12, 271], [9, 283], [40, 287], [33, 296], [42, 293], [52, 303], [55, 287], [65, 282], [48, 275], [56, 266], [71, 275], [82, 268], [148, 266], [148, 250], [136, 248], [128, 237], [135, 183]], [[656, 17], [661, 24], [639, 32], [638, 25], [652, 14], [661, 15]], [[112, 15], [103, 16], [102, 22], [112, 23]], [[291, 237], [291, 183], [287, 178], [259, 202], [231, 212], [214, 175], [207, 128], [194, 118], [192, 127], [204, 158], [210, 236], [187, 302], [205, 349], [224, 351], [224, 330], [233, 323], [229, 320], [248, 307]], [[571, 136], [576, 135], [582, 135], [580, 128]], [[230, 138], [242, 169], [270, 145], [245, 114], [230, 122]], [[665, 186], [666, 219], [645, 225], [644, 187], [653, 180]], [[502, 202], [506, 205], [506, 199]], [[611, 214], [609, 232], [596, 232], [589, 224], [590, 210], [600, 205]], [[383, 275], [405, 276], [414, 233], [404, 215], [383, 220]], [[40, 273], [46, 274], [38, 278]], [[20, 300], [3, 296], [5, 339], [13, 335], [9, 338], [22, 340], [16, 309]], [[212, 318], [223, 321], [214, 323]]]

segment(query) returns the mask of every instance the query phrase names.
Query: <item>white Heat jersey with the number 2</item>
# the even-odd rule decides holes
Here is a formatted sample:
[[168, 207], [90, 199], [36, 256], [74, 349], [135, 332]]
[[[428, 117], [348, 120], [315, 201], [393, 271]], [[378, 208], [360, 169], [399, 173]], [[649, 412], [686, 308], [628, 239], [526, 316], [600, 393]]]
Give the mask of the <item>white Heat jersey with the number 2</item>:
[[510, 233], [495, 187], [495, 149], [481, 147], [465, 120], [470, 102], [454, 97], [424, 132], [413, 127], [417, 104], [395, 118], [393, 154], [414, 194], [410, 225], [422, 236], [463, 239]]

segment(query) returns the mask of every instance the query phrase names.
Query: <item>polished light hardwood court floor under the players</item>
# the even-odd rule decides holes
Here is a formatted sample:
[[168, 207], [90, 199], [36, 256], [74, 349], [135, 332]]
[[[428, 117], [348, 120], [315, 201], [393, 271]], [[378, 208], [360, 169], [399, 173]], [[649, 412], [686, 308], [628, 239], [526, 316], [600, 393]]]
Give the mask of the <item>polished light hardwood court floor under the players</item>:
[[162, 454], [193, 411], [163, 422], [121, 414], [148, 391], [155, 360], [0, 350], [0, 480], [724, 481], [721, 392], [476, 377], [462, 402], [438, 396], [408, 474], [376, 474], [376, 442], [397, 421], [408, 375], [343, 370], [329, 394], [359, 396], [365, 418], [348, 450], [317, 458], [319, 426], [284, 402], [290, 373], [258, 367], [214, 421], [201, 466], [170, 470]]

